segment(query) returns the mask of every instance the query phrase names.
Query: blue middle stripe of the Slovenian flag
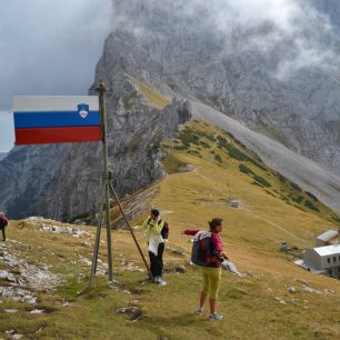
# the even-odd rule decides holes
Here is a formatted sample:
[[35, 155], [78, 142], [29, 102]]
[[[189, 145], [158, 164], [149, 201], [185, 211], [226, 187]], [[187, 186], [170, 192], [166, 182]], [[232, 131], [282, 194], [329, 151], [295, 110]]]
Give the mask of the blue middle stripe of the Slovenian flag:
[[14, 112], [16, 129], [100, 126], [99, 111], [81, 118], [78, 111]]

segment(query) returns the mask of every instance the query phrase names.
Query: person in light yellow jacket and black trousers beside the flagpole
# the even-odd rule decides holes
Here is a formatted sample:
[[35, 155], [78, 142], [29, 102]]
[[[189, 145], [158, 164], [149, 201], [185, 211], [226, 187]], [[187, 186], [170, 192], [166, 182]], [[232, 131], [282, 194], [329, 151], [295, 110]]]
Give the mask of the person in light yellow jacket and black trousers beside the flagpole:
[[162, 278], [163, 271], [163, 252], [164, 240], [169, 237], [169, 227], [166, 221], [160, 218], [160, 211], [152, 209], [150, 217], [140, 227], [134, 227], [147, 232], [148, 251], [150, 258], [151, 280], [160, 286], [167, 282]]

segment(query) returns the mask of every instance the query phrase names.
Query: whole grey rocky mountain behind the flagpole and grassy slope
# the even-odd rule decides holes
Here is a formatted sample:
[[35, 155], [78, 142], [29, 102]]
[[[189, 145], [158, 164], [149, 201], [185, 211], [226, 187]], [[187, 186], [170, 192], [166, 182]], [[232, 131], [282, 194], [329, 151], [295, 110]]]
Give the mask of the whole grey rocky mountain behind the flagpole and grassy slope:
[[[113, 1], [117, 27], [107, 38], [96, 68], [94, 84], [103, 79], [109, 89], [110, 168], [120, 196], [166, 174], [159, 166], [158, 146], [162, 139], [176, 136], [178, 127], [194, 113], [189, 102], [198, 102], [206, 104], [207, 111], [219, 111], [283, 143], [299, 154], [297, 160], [303, 156], [318, 162], [326, 170], [321, 169], [319, 177], [314, 176], [317, 170], [312, 171], [317, 183], [304, 183], [304, 188], [339, 211], [339, 189], [329, 186], [326, 178], [329, 173], [333, 183], [340, 173], [337, 96], [340, 83], [332, 69], [327, 68], [328, 53], [322, 54], [324, 62], [320, 64], [310, 52], [312, 64], [301, 66], [299, 44], [290, 41], [286, 31], [278, 36], [278, 41], [259, 50], [254, 38], [272, 37], [284, 30], [270, 20], [256, 24], [251, 21], [250, 27], [244, 27], [234, 24], [228, 16], [232, 30], [226, 31], [223, 27], [223, 31], [221, 27], [213, 30], [208, 11], [198, 28], [197, 7], [187, 12], [190, 3], [184, 7], [179, 6], [183, 3], [180, 0], [169, 7], [164, 3]], [[206, 2], [198, 3], [203, 6], [200, 13], [204, 13]], [[322, 24], [328, 27], [328, 21], [310, 11], [308, 7], [306, 16], [314, 26], [308, 26], [303, 37], [299, 36], [303, 43], [314, 43], [317, 51], [327, 46], [337, 48], [332, 29], [321, 28], [314, 34], [313, 30]], [[308, 40], [311, 36], [317, 38]], [[311, 51], [310, 48], [302, 51]], [[299, 68], [293, 76], [279, 78], [278, 66], [282, 66], [282, 60], [291, 67], [297, 58]], [[209, 117], [206, 119], [209, 121]], [[239, 138], [246, 137], [240, 133]], [[257, 147], [254, 141], [249, 146], [260, 149], [259, 154], [264, 150], [269, 153], [263, 143]], [[298, 161], [293, 163], [297, 169], [277, 161], [276, 169], [282, 168], [292, 180], [302, 179], [299, 171], [310, 173], [307, 168], [301, 170]], [[0, 178], [4, 182], [0, 208], [14, 217], [43, 214], [68, 220], [98, 209], [100, 173], [100, 148], [93, 144], [14, 148], [0, 162]], [[302, 186], [303, 181], [299, 183]]]

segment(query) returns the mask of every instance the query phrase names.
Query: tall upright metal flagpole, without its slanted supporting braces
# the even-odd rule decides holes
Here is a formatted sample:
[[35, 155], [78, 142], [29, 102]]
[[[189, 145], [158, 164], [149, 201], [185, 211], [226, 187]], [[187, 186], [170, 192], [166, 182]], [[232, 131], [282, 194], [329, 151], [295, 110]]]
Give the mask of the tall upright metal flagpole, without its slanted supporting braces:
[[107, 113], [106, 113], [106, 84], [102, 80], [99, 82], [99, 109], [101, 114], [101, 133], [102, 133], [102, 152], [103, 152], [103, 181], [106, 196], [106, 221], [107, 221], [107, 246], [108, 246], [108, 266], [109, 266], [109, 281], [113, 280], [112, 269], [112, 249], [111, 249], [111, 212], [110, 212], [110, 174], [109, 174], [109, 156], [108, 156], [108, 140], [107, 140]]

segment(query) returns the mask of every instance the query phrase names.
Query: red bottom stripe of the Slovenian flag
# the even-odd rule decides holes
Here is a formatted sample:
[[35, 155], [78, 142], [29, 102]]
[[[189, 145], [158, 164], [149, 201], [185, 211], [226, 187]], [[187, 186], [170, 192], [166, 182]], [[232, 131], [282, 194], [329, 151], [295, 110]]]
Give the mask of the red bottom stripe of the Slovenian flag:
[[100, 127], [16, 129], [16, 144], [52, 144], [100, 141]]

